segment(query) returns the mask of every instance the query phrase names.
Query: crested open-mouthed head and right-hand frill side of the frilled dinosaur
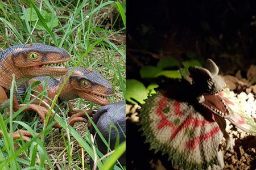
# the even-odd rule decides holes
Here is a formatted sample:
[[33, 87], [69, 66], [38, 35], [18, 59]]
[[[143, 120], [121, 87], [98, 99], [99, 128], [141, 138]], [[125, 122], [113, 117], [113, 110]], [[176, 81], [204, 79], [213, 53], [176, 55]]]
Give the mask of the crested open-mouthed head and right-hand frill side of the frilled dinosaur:
[[[240, 99], [232, 95], [232, 92], [225, 88], [226, 84], [218, 76], [218, 67], [213, 61], [208, 60], [205, 67], [208, 69], [197, 66], [189, 67], [189, 73], [191, 73], [193, 83], [196, 87], [199, 87], [199, 83], [205, 82], [204, 80], [209, 77], [214, 80], [214, 82], [207, 80], [207, 91], [212, 91], [212, 94], [208, 92], [198, 96], [197, 102], [203, 106], [206, 112], [214, 113], [213, 119], [216, 117], [221, 117], [217, 118], [218, 120], [226, 118], [233, 125], [237, 126], [237, 128], [256, 135], [256, 123], [248, 116], [249, 113], [246, 113], [245, 109], [253, 106], [246, 102], [241, 103]], [[203, 75], [206, 75], [205, 78], [203, 78]], [[222, 122], [224, 124], [225, 121]]]

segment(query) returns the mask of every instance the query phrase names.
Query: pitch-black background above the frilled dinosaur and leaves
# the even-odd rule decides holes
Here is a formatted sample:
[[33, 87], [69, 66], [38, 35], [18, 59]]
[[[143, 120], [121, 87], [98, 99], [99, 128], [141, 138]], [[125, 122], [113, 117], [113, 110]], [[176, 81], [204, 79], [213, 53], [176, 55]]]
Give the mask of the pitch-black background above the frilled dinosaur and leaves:
[[127, 78], [155, 63], [144, 52], [179, 61], [192, 52], [225, 64], [224, 73], [246, 70], [256, 57], [255, 15], [256, 1], [127, 1]]

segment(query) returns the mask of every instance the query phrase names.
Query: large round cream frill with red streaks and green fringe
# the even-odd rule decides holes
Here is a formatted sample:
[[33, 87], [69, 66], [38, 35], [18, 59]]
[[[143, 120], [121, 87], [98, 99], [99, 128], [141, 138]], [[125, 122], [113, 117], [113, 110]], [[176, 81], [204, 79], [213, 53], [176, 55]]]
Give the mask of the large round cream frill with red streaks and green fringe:
[[146, 100], [139, 117], [150, 150], [168, 154], [180, 169], [207, 169], [219, 164], [220, 128], [193, 105], [158, 92]]

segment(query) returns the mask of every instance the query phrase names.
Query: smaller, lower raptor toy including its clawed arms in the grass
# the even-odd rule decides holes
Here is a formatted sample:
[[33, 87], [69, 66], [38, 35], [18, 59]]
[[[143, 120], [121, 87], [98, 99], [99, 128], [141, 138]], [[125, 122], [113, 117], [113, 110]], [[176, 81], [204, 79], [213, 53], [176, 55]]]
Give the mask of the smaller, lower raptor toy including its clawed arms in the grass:
[[[26, 88], [34, 83], [36, 80], [42, 82], [38, 86], [34, 87], [33, 90], [37, 92], [43, 92], [44, 87], [43, 84], [47, 82], [47, 95], [49, 99], [53, 100], [57, 93], [60, 91], [62, 84], [64, 84], [65, 79], [68, 78], [68, 75], [73, 70], [73, 67], [69, 68], [68, 72], [61, 76], [60, 81], [49, 78], [47, 82], [47, 76], [39, 76], [29, 80], [24, 86], [21, 86], [18, 91], [21, 96], [24, 96], [24, 92]], [[34, 93], [35, 96], [38, 94]], [[109, 104], [108, 97], [114, 95], [114, 90], [112, 84], [108, 82], [98, 71], [92, 69], [84, 69], [81, 67], [76, 67], [72, 74], [69, 76], [67, 82], [64, 84], [63, 89], [60, 92], [59, 99], [57, 100], [57, 104], [59, 100], [68, 101], [69, 105], [69, 116], [71, 117], [69, 120], [69, 125], [73, 126], [77, 121], [84, 121], [84, 118], [88, 121], [88, 126], [90, 126], [90, 122], [86, 117], [86, 114], [82, 109], [73, 110], [71, 103], [69, 100], [82, 98], [86, 101], [91, 101], [98, 105], [107, 105]], [[40, 98], [40, 97], [39, 97]], [[46, 97], [43, 98], [44, 102], [51, 105], [51, 101]], [[39, 104], [40, 99], [36, 99], [33, 104]], [[42, 103], [44, 107], [47, 107]], [[92, 111], [86, 111], [89, 116], [93, 116]], [[42, 121], [44, 122], [43, 116]], [[55, 124], [54, 128], [61, 128], [59, 124]]]

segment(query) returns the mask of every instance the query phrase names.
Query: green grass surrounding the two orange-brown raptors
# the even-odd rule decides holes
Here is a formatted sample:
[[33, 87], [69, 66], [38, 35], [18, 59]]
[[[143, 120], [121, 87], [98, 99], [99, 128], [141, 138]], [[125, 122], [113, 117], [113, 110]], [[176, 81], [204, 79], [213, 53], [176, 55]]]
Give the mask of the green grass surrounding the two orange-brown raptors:
[[[31, 42], [64, 48], [71, 55], [70, 67], [90, 67], [100, 71], [113, 84], [115, 95], [111, 97], [111, 103], [125, 100], [124, 10], [123, 1], [2, 1], [0, 48], [4, 50], [11, 45]], [[11, 92], [15, 89], [14, 84]], [[75, 108], [100, 108], [82, 99], [73, 101], [73, 104]], [[2, 111], [3, 114], [6, 112], [6, 109]], [[65, 116], [65, 112], [57, 114]], [[22, 121], [26, 114], [31, 121]], [[51, 128], [51, 118], [47, 118], [47, 126], [40, 127], [40, 118], [32, 115], [22, 113], [20, 109], [10, 114], [9, 118], [0, 116], [3, 133], [0, 138], [1, 169], [90, 169], [90, 156], [100, 160], [97, 163], [99, 168], [116, 164], [114, 169], [125, 169], [117, 167], [115, 161], [125, 151], [125, 143], [101, 160], [104, 155], [97, 150], [85, 124], [76, 124], [72, 128], [67, 125], [66, 119], [56, 115], [55, 120], [63, 127], [59, 132]], [[8, 135], [20, 128], [33, 134], [29, 142], [13, 140]], [[108, 141], [105, 143], [108, 145]], [[18, 150], [14, 149], [14, 145], [19, 146]]]

